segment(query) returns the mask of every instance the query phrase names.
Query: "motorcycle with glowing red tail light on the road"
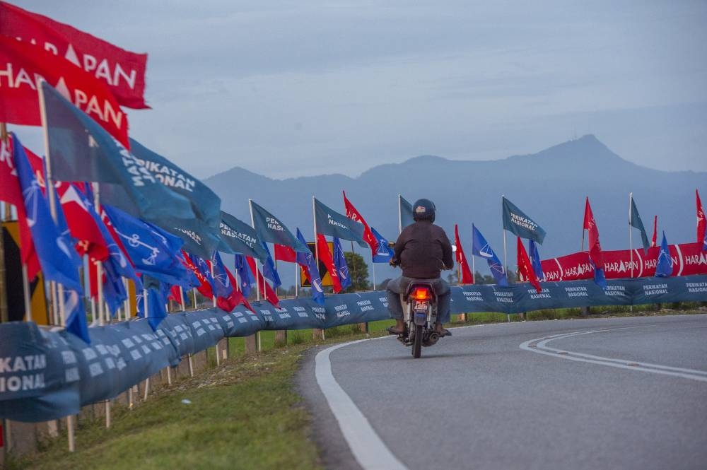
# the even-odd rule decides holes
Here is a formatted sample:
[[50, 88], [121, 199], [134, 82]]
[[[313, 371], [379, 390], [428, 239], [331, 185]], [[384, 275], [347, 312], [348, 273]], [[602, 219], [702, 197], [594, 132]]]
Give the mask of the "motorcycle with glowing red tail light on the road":
[[437, 322], [437, 295], [433, 283], [413, 281], [400, 295], [403, 306], [405, 329], [397, 336], [405, 346], [412, 346], [412, 357], [419, 358], [422, 346], [433, 346], [440, 334], [435, 329]]

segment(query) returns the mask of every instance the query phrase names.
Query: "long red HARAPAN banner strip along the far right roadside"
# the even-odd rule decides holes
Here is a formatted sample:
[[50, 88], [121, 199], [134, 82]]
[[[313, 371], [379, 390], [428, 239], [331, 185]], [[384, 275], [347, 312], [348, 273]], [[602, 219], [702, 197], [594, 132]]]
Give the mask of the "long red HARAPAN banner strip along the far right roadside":
[[[668, 249], [672, 258], [672, 276], [707, 274], [707, 252], [702, 251], [701, 243], [669, 245]], [[633, 266], [635, 278], [655, 276], [655, 264], [658, 262], [659, 252], [660, 247], [649, 248], [647, 254], [643, 253], [643, 248], [637, 248], [633, 249], [632, 257], [629, 249], [604, 251], [602, 252], [604, 274], [607, 279], [630, 278], [631, 266]], [[577, 281], [594, 276], [587, 252], [544, 259], [542, 271], [545, 274], [545, 281]]]

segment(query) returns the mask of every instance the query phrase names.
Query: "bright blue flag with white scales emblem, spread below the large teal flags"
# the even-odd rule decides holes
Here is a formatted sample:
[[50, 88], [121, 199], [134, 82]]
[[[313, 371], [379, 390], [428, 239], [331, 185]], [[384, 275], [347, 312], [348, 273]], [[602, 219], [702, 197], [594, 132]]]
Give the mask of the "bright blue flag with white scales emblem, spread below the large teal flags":
[[179, 255], [182, 240], [118, 208], [105, 204], [103, 210], [137, 271], [170, 285], [180, 284], [188, 277]]

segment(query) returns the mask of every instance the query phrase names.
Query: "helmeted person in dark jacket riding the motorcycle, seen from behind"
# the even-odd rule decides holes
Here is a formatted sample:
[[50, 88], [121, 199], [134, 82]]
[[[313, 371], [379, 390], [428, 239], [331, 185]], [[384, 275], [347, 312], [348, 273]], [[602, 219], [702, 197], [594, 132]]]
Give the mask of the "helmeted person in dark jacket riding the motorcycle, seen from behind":
[[402, 334], [405, 330], [400, 294], [405, 293], [412, 281], [433, 281], [437, 295], [436, 331], [440, 336], [451, 333], [442, 327], [450, 318], [449, 284], [440, 278], [440, 271], [452, 269], [452, 245], [444, 230], [435, 221], [435, 204], [429, 199], [419, 199], [413, 205], [415, 223], [402, 230], [395, 242], [395, 254], [390, 259], [392, 266], [402, 266], [402, 276], [393, 279], [387, 286], [388, 310], [395, 319], [395, 327], [388, 328], [391, 334]]

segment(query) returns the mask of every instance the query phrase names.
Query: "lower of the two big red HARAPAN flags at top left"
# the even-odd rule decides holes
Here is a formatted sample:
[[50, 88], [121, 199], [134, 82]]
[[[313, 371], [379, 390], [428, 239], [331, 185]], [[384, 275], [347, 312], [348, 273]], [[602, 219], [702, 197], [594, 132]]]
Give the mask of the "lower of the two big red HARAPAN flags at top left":
[[[4, 5], [1, 4], [0, 5]], [[128, 117], [107, 86], [61, 57], [0, 35], [0, 122], [42, 125], [37, 77], [129, 148]]]

